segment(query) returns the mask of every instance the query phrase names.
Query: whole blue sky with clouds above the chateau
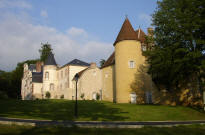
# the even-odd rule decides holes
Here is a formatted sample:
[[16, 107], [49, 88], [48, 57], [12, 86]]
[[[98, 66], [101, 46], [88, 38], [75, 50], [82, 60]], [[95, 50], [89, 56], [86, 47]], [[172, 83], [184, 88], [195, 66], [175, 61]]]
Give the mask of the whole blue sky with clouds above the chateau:
[[49, 43], [57, 64], [107, 59], [128, 16], [146, 33], [157, 0], [0, 0], [0, 70], [38, 59]]

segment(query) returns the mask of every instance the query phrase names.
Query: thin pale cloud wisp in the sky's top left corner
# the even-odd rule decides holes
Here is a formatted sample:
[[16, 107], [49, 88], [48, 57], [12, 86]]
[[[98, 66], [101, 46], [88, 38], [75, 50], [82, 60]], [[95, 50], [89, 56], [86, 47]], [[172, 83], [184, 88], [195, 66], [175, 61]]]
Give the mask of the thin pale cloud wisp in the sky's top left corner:
[[30, 9], [30, 8], [32, 8], [32, 6], [23, 0], [0, 0], [0, 8]]

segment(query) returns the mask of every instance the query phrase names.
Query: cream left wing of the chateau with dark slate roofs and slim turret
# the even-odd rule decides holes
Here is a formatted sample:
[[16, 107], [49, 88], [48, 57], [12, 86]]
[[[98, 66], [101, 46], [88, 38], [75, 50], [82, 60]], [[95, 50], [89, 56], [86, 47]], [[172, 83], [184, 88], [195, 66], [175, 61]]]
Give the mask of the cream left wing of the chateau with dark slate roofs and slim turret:
[[56, 64], [54, 55], [49, 54], [45, 63], [24, 64], [21, 95], [23, 100], [43, 99], [50, 93], [52, 99], [73, 99], [75, 85], [72, 80], [76, 73], [90, 67], [90, 64], [74, 59], [62, 67]]

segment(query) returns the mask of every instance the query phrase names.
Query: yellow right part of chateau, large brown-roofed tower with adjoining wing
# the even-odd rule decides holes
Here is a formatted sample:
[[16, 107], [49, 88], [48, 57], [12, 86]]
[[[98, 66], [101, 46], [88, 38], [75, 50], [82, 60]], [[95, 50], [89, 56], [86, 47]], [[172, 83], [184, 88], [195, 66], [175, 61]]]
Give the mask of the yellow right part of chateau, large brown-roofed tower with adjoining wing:
[[[142, 55], [142, 52], [148, 49], [145, 38], [146, 34], [141, 29], [135, 31], [126, 18], [113, 44], [115, 51], [101, 68], [103, 100], [128, 103], [131, 102], [132, 94], [135, 94], [137, 99], [144, 96], [136, 95], [141, 89], [133, 91], [131, 84], [135, 81], [135, 74], [140, 73], [140, 67], [146, 66], [146, 58]], [[146, 81], [142, 81], [143, 85], [151, 86], [150, 76], [147, 74], [144, 76]], [[144, 94], [146, 102], [152, 102], [154, 99], [152, 88], [146, 89]]]

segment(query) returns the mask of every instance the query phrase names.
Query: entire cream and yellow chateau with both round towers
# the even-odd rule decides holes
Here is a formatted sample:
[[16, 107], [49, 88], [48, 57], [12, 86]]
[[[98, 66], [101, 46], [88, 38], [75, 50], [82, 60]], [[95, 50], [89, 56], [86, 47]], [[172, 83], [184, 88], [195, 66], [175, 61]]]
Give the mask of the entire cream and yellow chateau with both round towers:
[[[72, 100], [75, 98], [76, 74], [79, 76], [78, 99], [92, 100], [99, 97], [105, 101], [128, 103], [133, 95], [140, 98], [140, 95], [132, 91], [131, 84], [135, 74], [140, 72], [140, 67], [146, 66], [142, 52], [149, 48], [145, 44], [145, 37], [151, 36], [152, 31], [152, 28], [148, 28], [147, 35], [140, 28], [135, 31], [126, 18], [113, 44], [115, 51], [101, 68], [95, 63], [88, 64], [77, 59], [59, 67], [52, 53], [45, 63], [25, 64], [22, 99], [43, 99], [49, 92], [50, 98]], [[146, 102], [152, 102], [152, 80], [149, 75], [146, 75], [145, 80], [143, 83], [150, 86], [145, 92]]]

